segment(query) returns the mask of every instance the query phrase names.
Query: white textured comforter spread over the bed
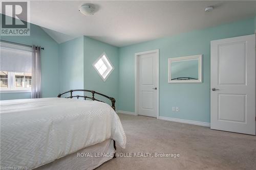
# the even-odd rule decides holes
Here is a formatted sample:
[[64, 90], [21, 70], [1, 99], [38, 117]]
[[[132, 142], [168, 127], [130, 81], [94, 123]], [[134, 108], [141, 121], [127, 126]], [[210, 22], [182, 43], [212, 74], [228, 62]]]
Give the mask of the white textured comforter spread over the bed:
[[1, 101], [1, 168], [28, 169], [82, 148], [126, 136], [115, 111], [105, 103], [63, 98]]

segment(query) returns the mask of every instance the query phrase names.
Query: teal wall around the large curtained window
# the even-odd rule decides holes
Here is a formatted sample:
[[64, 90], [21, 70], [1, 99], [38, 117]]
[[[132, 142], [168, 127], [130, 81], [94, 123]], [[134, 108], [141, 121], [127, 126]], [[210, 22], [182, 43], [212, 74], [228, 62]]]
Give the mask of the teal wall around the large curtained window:
[[[54, 97], [59, 93], [58, 43], [40, 27], [30, 24], [30, 36], [1, 36], [2, 40], [40, 45], [41, 51], [42, 97]], [[30, 93], [2, 93], [0, 100], [30, 98]]]

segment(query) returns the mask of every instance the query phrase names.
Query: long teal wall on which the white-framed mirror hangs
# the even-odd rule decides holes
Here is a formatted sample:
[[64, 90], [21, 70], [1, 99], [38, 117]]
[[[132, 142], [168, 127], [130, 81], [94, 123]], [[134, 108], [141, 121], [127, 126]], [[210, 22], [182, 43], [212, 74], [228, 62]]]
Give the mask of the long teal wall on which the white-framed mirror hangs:
[[[118, 110], [134, 112], [134, 54], [159, 49], [160, 116], [210, 122], [210, 41], [254, 33], [254, 18], [119, 48]], [[203, 83], [168, 84], [168, 58], [203, 54]], [[172, 106], [180, 107], [172, 112]]]

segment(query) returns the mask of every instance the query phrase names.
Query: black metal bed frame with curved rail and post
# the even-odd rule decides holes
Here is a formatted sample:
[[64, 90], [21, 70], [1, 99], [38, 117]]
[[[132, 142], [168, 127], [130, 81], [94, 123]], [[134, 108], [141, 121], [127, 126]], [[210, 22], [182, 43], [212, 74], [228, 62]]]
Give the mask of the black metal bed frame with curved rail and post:
[[[87, 95], [72, 95], [74, 91], [91, 92], [91, 93], [92, 93], [92, 97], [89, 97], [89, 96], [87, 96]], [[111, 106], [111, 107], [114, 109], [114, 111], [116, 111], [116, 106], [115, 106], [116, 100], [115, 100], [115, 98], [111, 98], [111, 97], [109, 97], [109, 96], [107, 96], [107, 95], [105, 95], [105, 94], [96, 92], [96, 91], [94, 91], [94, 90], [84, 90], [84, 89], [69, 90], [69, 91], [66, 91], [66, 92], [63, 92], [63, 93], [59, 93], [59, 94], [58, 94], [58, 98], [60, 98], [61, 95], [66, 94], [66, 93], [70, 93], [70, 96], [65, 97], [65, 98], [70, 98], [70, 99], [72, 99], [72, 98], [77, 98], [77, 99], [83, 98], [84, 100], [86, 100], [86, 99], [91, 99], [92, 101], [103, 102], [103, 101], [100, 101], [100, 100], [97, 100], [97, 99], [94, 98], [95, 94], [99, 94], [99, 95], [101, 95], [101, 96], [103, 96], [103, 97], [109, 99], [109, 100], [111, 101], [111, 103], [112, 103], [112, 106]], [[105, 102], [103, 102], [103, 103], [105, 103]], [[114, 149], [115, 149], [115, 151], [116, 151], [116, 141], [115, 141], [114, 139], [113, 139], [113, 141], [114, 141]], [[116, 153], [114, 154], [114, 157], [113, 157], [113, 158], [116, 158]]]

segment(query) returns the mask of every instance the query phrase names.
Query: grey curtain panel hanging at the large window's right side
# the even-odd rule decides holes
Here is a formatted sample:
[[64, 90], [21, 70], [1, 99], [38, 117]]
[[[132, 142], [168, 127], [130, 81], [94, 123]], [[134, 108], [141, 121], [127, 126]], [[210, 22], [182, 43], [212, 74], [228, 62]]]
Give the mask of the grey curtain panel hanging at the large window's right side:
[[41, 98], [41, 48], [32, 46], [32, 88], [31, 98]]

